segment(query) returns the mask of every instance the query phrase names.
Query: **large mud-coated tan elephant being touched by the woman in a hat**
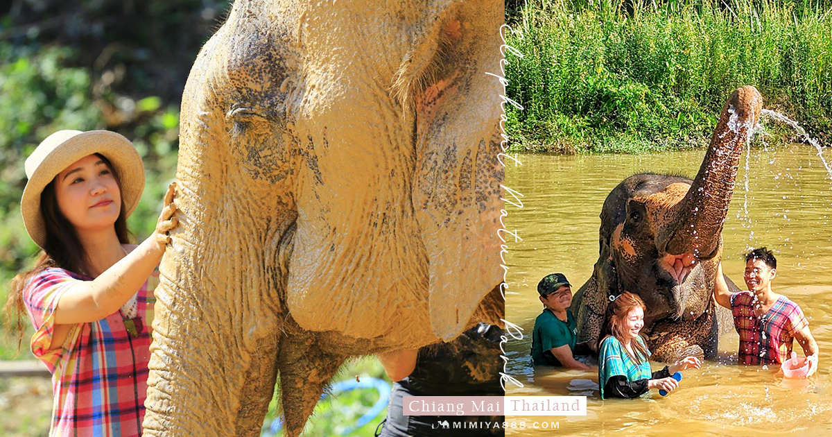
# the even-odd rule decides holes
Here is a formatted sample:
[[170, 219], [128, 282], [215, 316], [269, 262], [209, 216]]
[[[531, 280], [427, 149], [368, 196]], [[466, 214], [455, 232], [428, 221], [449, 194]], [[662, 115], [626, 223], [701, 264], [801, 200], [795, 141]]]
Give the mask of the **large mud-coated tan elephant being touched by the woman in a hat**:
[[145, 435], [259, 435], [279, 375], [296, 436], [349, 356], [503, 326], [503, 22], [493, 0], [234, 3], [182, 97]]

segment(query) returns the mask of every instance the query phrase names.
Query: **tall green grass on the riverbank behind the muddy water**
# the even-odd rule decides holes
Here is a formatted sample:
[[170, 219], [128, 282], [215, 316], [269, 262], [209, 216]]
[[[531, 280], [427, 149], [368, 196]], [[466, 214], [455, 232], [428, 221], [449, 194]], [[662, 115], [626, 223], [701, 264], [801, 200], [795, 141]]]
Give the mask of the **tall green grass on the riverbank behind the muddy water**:
[[507, 56], [508, 97], [524, 107], [507, 110], [513, 151], [703, 146], [744, 84], [830, 144], [832, 3], [627, 4], [537, 0], [513, 17], [522, 58]]

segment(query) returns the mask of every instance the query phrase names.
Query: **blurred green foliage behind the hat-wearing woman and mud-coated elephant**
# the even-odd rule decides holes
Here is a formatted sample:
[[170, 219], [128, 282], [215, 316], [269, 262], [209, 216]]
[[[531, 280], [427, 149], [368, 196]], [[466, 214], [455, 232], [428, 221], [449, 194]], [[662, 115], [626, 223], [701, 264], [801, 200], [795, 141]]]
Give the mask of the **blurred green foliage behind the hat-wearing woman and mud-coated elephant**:
[[[228, 0], [0, 2], [0, 302], [8, 281], [37, 253], [20, 215], [23, 161], [52, 132], [108, 129], [134, 142], [146, 186], [128, 227], [136, 241], [150, 235], [176, 174], [182, 88], [229, 6]], [[3, 315], [4, 333], [8, 322]], [[32, 359], [30, 336], [19, 355], [17, 341], [0, 336], [0, 360]], [[369, 357], [344, 365], [336, 379], [355, 375], [384, 377], [384, 370]], [[0, 381], [0, 398], [12, 383]], [[377, 399], [374, 390], [356, 390], [319, 403], [307, 435], [337, 435]], [[272, 402], [265, 426], [276, 407]], [[0, 421], [0, 435], [46, 435], [48, 411], [22, 410], [17, 420]], [[354, 435], [373, 435], [385, 415]]]

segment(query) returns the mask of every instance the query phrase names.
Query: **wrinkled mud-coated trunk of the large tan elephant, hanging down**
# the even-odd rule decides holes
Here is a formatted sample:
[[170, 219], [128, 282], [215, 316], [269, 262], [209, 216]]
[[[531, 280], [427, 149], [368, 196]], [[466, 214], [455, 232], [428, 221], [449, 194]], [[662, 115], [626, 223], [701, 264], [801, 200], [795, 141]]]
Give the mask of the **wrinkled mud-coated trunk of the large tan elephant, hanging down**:
[[222, 146], [225, 101], [213, 91], [220, 82], [210, 62], [222, 53], [223, 29], [203, 47], [182, 96], [179, 226], [155, 291], [145, 437], [258, 435], [275, 387], [281, 260], [296, 213], [270, 181], [235, 171], [238, 149]]

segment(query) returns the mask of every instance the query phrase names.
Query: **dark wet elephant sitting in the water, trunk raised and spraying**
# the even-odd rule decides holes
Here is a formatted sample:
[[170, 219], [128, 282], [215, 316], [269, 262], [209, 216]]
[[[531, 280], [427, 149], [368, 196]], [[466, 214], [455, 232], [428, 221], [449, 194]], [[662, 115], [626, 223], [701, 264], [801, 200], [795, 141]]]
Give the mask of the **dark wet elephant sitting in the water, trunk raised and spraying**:
[[610, 297], [631, 291], [647, 307], [641, 332], [653, 360], [716, 354], [719, 335], [733, 326], [730, 311], [711, 297], [722, 225], [762, 102], [755, 87], [731, 94], [693, 181], [643, 173], [610, 192], [601, 211], [598, 261], [572, 300], [579, 344], [596, 350]]

